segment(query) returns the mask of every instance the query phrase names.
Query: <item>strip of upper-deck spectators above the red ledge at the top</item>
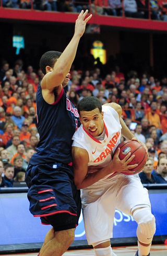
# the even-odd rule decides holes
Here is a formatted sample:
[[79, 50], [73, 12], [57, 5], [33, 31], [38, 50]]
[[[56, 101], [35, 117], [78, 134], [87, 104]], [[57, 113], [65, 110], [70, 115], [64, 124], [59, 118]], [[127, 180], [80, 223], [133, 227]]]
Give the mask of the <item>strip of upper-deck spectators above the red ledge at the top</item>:
[[[3, 7], [54, 12], [80, 13], [82, 9], [97, 12], [99, 15], [131, 18], [167, 20], [167, 0], [3, 0]], [[31, 6], [32, 5], [32, 6]]]

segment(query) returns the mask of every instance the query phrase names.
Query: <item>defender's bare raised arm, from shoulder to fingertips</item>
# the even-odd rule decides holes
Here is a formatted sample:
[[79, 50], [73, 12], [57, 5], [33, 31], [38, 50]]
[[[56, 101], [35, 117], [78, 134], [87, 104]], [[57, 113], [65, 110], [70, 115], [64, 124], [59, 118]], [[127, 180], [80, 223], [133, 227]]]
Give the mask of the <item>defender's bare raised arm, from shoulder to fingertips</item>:
[[43, 89], [46, 88], [48, 90], [51, 90], [54, 87], [59, 86], [63, 83], [67, 73], [70, 70], [71, 64], [75, 59], [78, 43], [81, 36], [85, 32], [86, 24], [88, 20], [92, 17], [92, 15], [89, 15], [86, 18], [87, 14], [88, 14], [88, 10], [86, 10], [85, 13], [84, 13], [84, 10], [82, 10], [81, 13], [79, 14], [76, 20], [75, 32], [74, 32], [73, 38], [71, 39], [68, 46], [63, 51], [63, 53], [61, 54], [57, 62], [55, 63], [54, 68], [52, 70], [49, 70], [52, 72], [47, 72], [46, 75], [43, 77], [43, 80], [41, 82], [41, 87]]

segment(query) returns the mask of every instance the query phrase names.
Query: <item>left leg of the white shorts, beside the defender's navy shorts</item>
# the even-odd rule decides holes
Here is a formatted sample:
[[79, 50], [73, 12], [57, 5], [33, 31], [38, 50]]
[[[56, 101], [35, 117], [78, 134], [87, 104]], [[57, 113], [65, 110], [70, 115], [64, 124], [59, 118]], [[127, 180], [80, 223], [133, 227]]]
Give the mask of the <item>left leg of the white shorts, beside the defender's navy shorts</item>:
[[81, 191], [85, 231], [89, 244], [112, 237], [115, 183], [114, 178], [102, 179]]

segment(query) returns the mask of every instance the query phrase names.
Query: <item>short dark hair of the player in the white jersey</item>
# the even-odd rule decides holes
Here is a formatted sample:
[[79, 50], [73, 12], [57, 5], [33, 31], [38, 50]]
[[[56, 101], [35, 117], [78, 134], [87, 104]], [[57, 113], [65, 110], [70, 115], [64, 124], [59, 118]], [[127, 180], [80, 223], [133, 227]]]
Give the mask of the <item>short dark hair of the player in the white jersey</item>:
[[79, 115], [80, 111], [91, 111], [95, 108], [99, 108], [100, 113], [102, 112], [102, 104], [100, 100], [93, 96], [82, 98], [77, 105]]

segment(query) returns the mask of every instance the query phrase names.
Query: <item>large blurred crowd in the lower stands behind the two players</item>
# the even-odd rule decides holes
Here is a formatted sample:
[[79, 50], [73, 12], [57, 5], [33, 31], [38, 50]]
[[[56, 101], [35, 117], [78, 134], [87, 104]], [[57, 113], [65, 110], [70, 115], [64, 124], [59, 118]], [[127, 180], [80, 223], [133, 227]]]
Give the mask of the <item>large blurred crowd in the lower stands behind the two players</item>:
[[[167, 183], [167, 76], [138, 75], [133, 70], [125, 74], [117, 64], [107, 69], [99, 58], [95, 63], [87, 70], [71, 66], [65, 87], [68, 98], [75, 106], [86, 96], [98, 97], [102, 104], [120, 104], [127, 127], [148, 148], [141, 181]], [[35, 96], [43, 73], [25, 66], [21, 59], [14, 66], [7, 60], [1, 63], [0, 187], [25, 179], [39, 141]]]

